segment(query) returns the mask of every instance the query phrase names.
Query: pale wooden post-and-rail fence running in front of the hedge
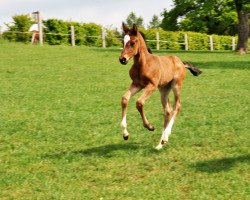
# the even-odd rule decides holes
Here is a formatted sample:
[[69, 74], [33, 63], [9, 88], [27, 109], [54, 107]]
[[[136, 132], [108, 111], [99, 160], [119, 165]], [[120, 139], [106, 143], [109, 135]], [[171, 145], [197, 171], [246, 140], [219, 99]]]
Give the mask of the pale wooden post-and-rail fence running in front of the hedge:
[[[41, 28], [41, 27], [40, 27]], [[42, 29], [42, 28], [41, 28]], [[6, 33], [15, 33], [15, 34], [30, 34], [32, 35], [31, 32], [20, 32], [20, 31], [5, 31]], [[71, 46], [75, 46], [76, 45], [76, 36], [79, 36], [75, 33], [75, 28], [74, 26], [70, 26], [70, 32], [69, 33], [46, 33], [46, 32], [43, 32], [42, 30], [39, 31], [40, 34], [42, 34], [41, 36], [39, 35], [39, 40], [40, 38], [43, 38], [44, 35], [55, 35], [55, 36], [68, 36], [70, 38], [70, 43], [71, 43]], [[0, 39], [2, 39], [2, 31], [1, 31], [1, 27], [0, 27]], [[108, 39], [112, 39], [112, 37], [108, 36], [105, 29], [102, 28], [102, 32], [100, 35], [81, 35], [81, 37], [86, 37], [86, 38], [99, 38], [101, 39], [101, 43], [102, 43], [102, 48], [106, 48], [107, 47], [107, 40]], [[162, 43], [169, 43], [169, 44], [179, 44], [179, 45], [183, 45], [184, 46], [184, 49], [187, 51], [189, 50], [189, 45], [196, 45], [195, 42], [190, 42], [189, 40], [189, 37], [192, 38], [192, 36], [188, 36], [188, 34], [184, 34], [184, 37], [183, 37], [183, 42], [175, 42], [175, 41], [170, 41], [170, 40], [167, 40], [167, 39], [160, 39], [160, 33], [159, 32], [156, 32], [155, 34], [155, 39], [149, 39], [149, 40], [146, 40], [146, 42], [148, 43], [154, 43], [155, 44], [155, 47], [156, 47], [156, 50], [160, 50], [160, 44]], [[32, 37], [33, 38], [33, 37]], [[220, 45], [227, 45], [227, 46], [230, 46], [231, 50], [235, 50], [235, 47], [236, 47], [236, 43], [235, 43], [235, 37], [231, 37], [231, 44], [229, 43], [220, 43]], [[116, 39], [122, 41], [123, 38], [117, 38]], [[214, 51], [215, 50], [215, 45], [216, 43], [214, 42], [214, 38], [212, 35], [208, 36], [207, 38], [208, 40], [208, 43], [209, 43], [209, 50], [210, 51]], [[42, 46], [43, 45], [43, 40], [42, 41], [39, 41], [40, 45]]]

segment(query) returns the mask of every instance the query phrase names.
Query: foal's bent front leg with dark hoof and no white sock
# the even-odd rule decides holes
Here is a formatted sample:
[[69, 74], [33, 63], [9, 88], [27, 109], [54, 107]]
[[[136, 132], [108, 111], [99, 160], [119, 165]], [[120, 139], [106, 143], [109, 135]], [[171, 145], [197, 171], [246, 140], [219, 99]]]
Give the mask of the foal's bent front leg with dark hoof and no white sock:
[[145, 112], [144, 112], [144, 103], [145, 101], [152, 95], [152, 93], [156, 90], [157, 87], [155, 87], [153, 84], [148, 84], [140, 98], [136, 102], [136, 108], [140, 112], [142, 121], [143, 121], [143, 126], [147, 128], [150, 131], [154, 131], [155, 128], [148, 122]]

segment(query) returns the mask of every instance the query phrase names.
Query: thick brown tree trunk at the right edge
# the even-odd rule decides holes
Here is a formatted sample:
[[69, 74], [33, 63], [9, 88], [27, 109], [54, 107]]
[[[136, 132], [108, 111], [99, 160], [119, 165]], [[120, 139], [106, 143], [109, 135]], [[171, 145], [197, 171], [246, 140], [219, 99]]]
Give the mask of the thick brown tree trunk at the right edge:
[[240, 53], [247, 52], [247, 42], [249, 37], [249, 0], [234, 0], [238, 14], [238, 44], [236, 50]]

